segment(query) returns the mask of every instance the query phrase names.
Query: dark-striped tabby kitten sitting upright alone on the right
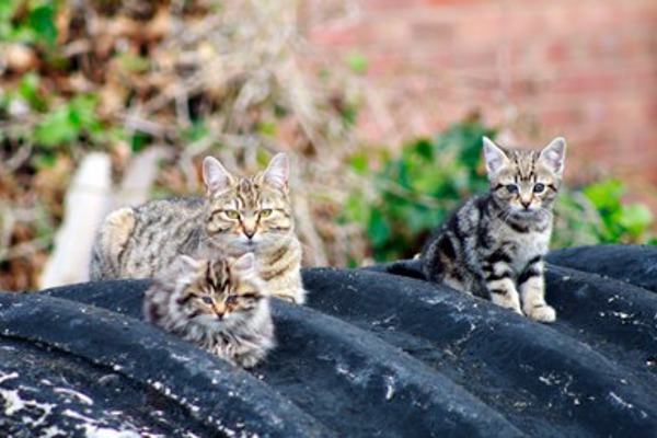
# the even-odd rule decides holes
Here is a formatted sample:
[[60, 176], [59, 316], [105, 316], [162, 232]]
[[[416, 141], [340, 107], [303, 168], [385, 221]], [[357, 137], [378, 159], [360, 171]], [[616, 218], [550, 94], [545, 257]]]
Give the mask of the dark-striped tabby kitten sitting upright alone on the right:
[[556, 138], [540, 152], [506, 150], [486, 137], [483, 142], [491, 191], [470, 198], [437, 230], [422, 254], [424, 274], [532, 320], [553, 322], [543, 256], [566, 142]]

